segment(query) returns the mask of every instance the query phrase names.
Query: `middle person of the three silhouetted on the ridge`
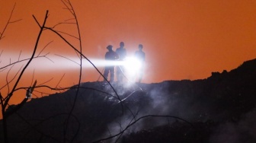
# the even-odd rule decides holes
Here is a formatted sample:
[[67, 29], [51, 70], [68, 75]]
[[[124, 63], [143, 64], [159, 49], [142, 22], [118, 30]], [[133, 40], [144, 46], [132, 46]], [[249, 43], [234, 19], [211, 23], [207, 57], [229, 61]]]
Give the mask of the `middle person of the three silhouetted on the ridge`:
[[[126, 49], [123, 48], [124, 43], [120, 42], [120, 47], [117, 48], [116, 52], [119, 55], [119, 60], [123, 62], [123, 60], [126, 58]], [[123, 65], [117, 66], [117, 81], [122, 82], [123, 81], [123, 74], [124, 74], [124, 67]]]

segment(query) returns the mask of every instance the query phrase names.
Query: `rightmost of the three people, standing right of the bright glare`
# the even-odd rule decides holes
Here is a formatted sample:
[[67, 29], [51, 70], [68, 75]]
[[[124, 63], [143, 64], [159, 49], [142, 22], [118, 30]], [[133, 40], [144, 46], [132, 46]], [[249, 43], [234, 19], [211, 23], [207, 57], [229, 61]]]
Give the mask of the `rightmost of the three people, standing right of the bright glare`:
[[139, 50], [135, 52], [136, 59], [139, 60], [140, 66], [137, 70], [136, 76], [138, 76], [138, 82], [140, 83], [142, 81], [142, 75], [144, 71], [144, 62], [145, 62], [145, 52], [142, 51], [142, 44], [139, 44]]

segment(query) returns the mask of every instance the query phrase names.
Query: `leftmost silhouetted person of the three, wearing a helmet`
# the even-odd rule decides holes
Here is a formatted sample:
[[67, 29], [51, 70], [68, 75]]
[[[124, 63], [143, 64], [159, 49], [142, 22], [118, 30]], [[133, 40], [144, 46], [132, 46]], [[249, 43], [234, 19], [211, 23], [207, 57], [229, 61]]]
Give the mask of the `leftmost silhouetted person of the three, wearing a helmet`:
[[[107, 49], [108, 49], [108, 52], [106, 52], [106, 54], [105, 54], [105, 59], [107, 61], [111, 62], [111, 61], [119, 59], [117, 52], [113, 51], [112, 45], [107, 46]], [[115, 65], [111, 65], [111, 64], [105, 66], [104, 77], [106, 79], [108, 79], [107, 77], [108, 77], [108, 74], [110, 73], [110, 82], [114, 81], [114, 67], [115, 67]], [[104, 79], [104, 81], [106, 81], [106, 79]]]

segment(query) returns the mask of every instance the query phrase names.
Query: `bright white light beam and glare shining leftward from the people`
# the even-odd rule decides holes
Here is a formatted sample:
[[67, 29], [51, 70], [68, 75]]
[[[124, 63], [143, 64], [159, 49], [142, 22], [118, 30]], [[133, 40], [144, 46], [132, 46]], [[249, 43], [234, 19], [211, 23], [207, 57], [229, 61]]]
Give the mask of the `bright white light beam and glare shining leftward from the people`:
[[[1, 62], [0, 62], [0, 68], [4, 67], [5, 65], [10, 64], [11, 62], [17, 62], [18, 58], [17, 56], [14, 56], [14, 58], [11, 59], [11, 57], [6, 57], [14, 55], [14, 53], [8, 53], [2, 54], [1, 56]], [[21, 54], [20, 60], [22, 59], [29, 59], [30, 54], [24, 52]], [[82, 61], [77, 56], [56, 56], [53, 54], [47, 55], [47, 58], [38, 58], [33, 59], [32, 62], [30, 62], [30, 65], [27, 68], [27, 71], [69, 71], [69, 70], [77, 70], [81, 68], [81, 62], [82, 62], [82, 68], [88, 69], [88, 68], [99, 68], [100, 70], [106, 66], [116, 66], [116, 69], [118, 66], [122, 66], [123, 69], [123, 75], [126, 76], [126, 78], [134, 78], [136, 73], [141, 70], [142, 68], [142, 62], [140, 62], [135, 57], [126, 57], [124, 61], [112, 61], [112, 60], [105, 60], [105, 59], [95, 59], [92, 58], [89, 60], [91, 62], [88, 62], [87, 59], [82, 59]], [[24, 66], [28, 60], [24, 62], [18, 62], [15, 64], [15, 66], [12, 68], [13, 71], [17, 71], [21, 66]], [[94, 65], [92, 65], [92, 64]], [[9, 66], [11, 67], [11, 66]], [[6, 72], [8, 70], [5, 70]]]

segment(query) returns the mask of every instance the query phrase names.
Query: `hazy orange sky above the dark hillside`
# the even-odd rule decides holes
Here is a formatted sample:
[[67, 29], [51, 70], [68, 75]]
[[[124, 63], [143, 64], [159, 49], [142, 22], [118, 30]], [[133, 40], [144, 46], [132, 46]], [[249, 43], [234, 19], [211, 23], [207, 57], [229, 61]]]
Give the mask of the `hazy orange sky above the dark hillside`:
[[[49, 10], [48, 27], [72, 17], [58, 0], [2, 0], [0, 30], [5, 26], [15, 2], [12, 20], [22, 21], [9, 25], [5, 38], [0, 41], [0, 52], [3, 51], [1, 67], [10, 59], [13, 62], [17, 60], [21, 50], [22, 56], [29, 57], [34, 49], [40, 29], [32, 14], [42, 23], [46, 10]], [[116, 49], [123, 41], [129, 55], [133, 55], [139, 43], [143, 44], [147, 67], [142, 82], [203, 79], [209, 77], [212, 71], [230, 71], [256, 57], [256, 1], [253, 0], [71, 2], [78, 16], [82, 50], [89, 59], [104, 59], [109, 44]], [[77, 31], [72, 24], [58, 28], [72, 34]], [[50, 52], [56, 63], [58, 59], [54, 54], [75, 58], [75, 52], [49, 31], [43, 33], [38, 50], [52, 40], [53, 43], [43, 53]], [[70, 37], [69, 40], [78, 46], [77, 40]], [[21, 85], [31, 84], [33, 70], [34, 79], [39, 83], [54, 78], [55, 81], [50, 84], [57, 84], [65, 74], [62, 86], [77, 84], [78, 77], [75, 75], [78, 68], [72, 68], [72, 62], [61, 62], [61, 67], [47, 59], [40, 60], [28, 68], [27, 78], [22, 79]], [[102, 67], [99, 69], [102, 70]], [[98, 80], [99, 75], [92, 68], [85, 68], [83, 73], [82, 81]], [[5, 77], [6, 72], [1, 72], [1, 86], [6, 83], [3, 80]], [[11, 79], [11, 75], [8, 77]]]

